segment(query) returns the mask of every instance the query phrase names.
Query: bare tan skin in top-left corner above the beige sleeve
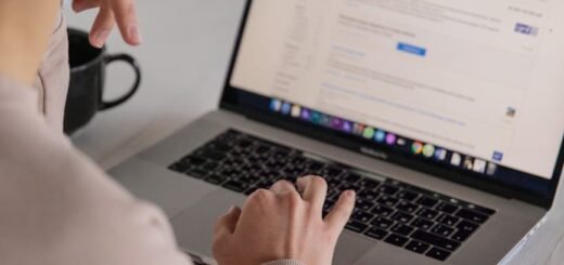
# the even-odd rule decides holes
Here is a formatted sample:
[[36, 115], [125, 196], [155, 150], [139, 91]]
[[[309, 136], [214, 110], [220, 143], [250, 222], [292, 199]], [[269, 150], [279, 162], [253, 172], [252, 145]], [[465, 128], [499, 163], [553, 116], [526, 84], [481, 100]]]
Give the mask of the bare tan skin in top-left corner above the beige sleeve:
[[60, 0], [0, 0], [0, 75], [33, 84]]

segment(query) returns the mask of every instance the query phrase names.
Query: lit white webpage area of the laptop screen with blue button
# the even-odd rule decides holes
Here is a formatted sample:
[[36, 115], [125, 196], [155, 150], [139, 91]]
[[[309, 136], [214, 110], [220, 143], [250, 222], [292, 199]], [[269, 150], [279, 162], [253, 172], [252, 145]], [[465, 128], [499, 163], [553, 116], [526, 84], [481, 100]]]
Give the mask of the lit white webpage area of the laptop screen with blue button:
[[557, 0], [253, 1], [231, 85], [478, 158], [470, 168], [550, 178], [563, 12]]

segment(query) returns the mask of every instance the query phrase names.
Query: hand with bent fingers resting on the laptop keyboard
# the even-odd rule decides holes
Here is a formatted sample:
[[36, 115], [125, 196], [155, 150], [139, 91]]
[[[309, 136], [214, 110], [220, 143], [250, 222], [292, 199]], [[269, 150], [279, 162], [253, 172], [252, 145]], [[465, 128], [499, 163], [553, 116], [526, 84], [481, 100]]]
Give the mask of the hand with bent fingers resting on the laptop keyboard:
[[[232, 208], [215, 230], [214, 255], [219, 264], [261, 264], [297, 260], [308, 265], [332, 264], [337, 239], [355, 207], [346, 190], [323, 218], [328, 185], [322, 177], [275, 183], [253, 193], [243, 209]], [[302, 196], [300, 196], [302, 194]]]

